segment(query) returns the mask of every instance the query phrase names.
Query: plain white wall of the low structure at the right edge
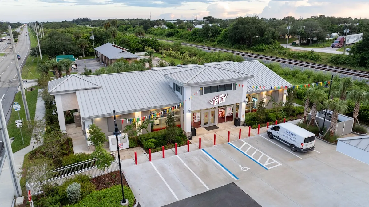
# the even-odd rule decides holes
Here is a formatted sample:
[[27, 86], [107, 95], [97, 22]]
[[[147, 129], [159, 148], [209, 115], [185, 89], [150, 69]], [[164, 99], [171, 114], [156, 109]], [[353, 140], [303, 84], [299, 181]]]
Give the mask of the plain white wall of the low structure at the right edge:
[[337, 148], [338, 152], [345, 154], [349, 157], [355, 158], [359, 161], [362, 161], [369, 165], [369, 152], [362, 150], [360, 148], [354, 147], [350, 144], [344, 143], [343, 141], [338, 140]]

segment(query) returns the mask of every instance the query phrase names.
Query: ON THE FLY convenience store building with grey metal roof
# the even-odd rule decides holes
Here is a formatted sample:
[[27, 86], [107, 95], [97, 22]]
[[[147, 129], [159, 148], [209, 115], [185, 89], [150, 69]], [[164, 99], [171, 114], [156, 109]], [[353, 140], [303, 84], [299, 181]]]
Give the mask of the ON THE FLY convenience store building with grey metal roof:
[[[95, 123], [108, 136], [118, 128], [154, 119], [147, 131], [165, 129], [169, 113], [189, 135], [192, 127], [209, 127], [241, 119], [258, 102], [285, 102], [290, 83], [259, 61], [157, 67], [152, 70], [82, 76], [71, 74], [48, 83], [54, 95], [60, 129], [66, 132], [64, 111], [80, 112], [85, 133]], [[269, 104], [267, 108], [271, 108]], [[142, 131], [146, 133], [146, 131]]]

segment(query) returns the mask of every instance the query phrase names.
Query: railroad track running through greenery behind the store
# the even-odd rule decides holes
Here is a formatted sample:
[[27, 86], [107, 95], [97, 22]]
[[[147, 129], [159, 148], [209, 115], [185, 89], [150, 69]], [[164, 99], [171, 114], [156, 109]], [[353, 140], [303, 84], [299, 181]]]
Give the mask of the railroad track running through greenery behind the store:
[[[174, 41], [163, 40], [163, 39], [159, 39], [159, 40], [167, 41], [167, 42], [174, 42]], [[310, 67], [310, 68], [313, 68], [313, 69], [331, 71], [331, 72], [334, 72], [334, 73], [342, 73], [342, 74], [347, 74], [347, 75], [351, 75], [351, 76], [369, 78], [369, 72], [368, 71], [353, 70], [353, 69], [348, 69], [348, 68], [343, 68], [343, 67], [335, 67], [335, 66], [328, 66], [328, 65], [317, 64], [317, 63], [304, 62], [304, 61], [301, 61], [301, 60], [291, 60], [291, 59], [286, 59], [286, 58], [281, 58], [281, 57], [273, 57], [273, 56], [268, 56], [268, 55], [259, 55], [259, 54], [255, 54], [255, 53], [240, 52], [240, 51], [237, 51], [237, 50], [215, 48], [215, 47], [196, 45], [196, 44], [191, 44], [191, 43], [182, 43], [182, 45], [192, 46], [192, 47], [207, 49], [207, 50], [213, 50], [213, 51], [217, 51], [217, 52], [229, 52], [229, 53], [232, 53], [232, 54], [235, 54], [235, 55], [241, 55], [241, 56], [246, 56], [246, 57], [254, 57], [254, 58], [263, 59], [263, 60], [270, 60], [270, 61], [275, 61], [275, 62], [280, 62], [280, 63], [293, 64], [293, 65], [297, 65], [297, 66]]]

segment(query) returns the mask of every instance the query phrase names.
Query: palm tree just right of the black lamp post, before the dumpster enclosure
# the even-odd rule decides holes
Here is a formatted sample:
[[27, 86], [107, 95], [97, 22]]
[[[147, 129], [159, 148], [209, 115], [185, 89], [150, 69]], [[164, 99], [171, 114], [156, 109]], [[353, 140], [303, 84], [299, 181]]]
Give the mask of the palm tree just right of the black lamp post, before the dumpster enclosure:
[[330, 126], [330, 136], [333, 136], [337, 129], [338, 114], [346, 112], [347, 102], [339, 98], [327, 99], [324, 101], [324, 106], [333, 112]]

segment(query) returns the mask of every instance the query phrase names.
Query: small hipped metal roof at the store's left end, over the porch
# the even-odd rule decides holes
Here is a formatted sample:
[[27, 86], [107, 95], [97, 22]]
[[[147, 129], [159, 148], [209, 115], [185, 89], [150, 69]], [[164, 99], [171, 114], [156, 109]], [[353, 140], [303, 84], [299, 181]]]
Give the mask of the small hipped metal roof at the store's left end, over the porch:
[[101, 85], [85, 78], [86, 76], [71, 74], [48, 82], [50, 94], [101, 88]]

